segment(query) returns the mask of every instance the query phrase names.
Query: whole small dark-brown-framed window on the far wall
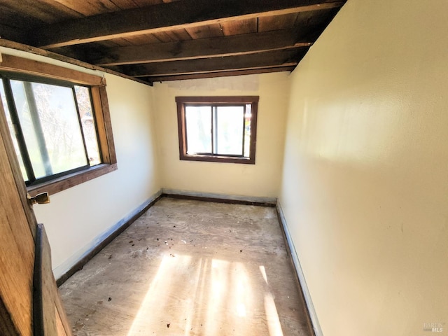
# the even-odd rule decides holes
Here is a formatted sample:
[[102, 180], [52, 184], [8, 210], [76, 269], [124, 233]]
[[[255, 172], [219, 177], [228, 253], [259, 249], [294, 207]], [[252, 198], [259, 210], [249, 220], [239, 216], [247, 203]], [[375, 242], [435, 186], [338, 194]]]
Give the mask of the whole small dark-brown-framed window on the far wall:
[[181, 160], [255, 164], [258, 97], [176, 97]]

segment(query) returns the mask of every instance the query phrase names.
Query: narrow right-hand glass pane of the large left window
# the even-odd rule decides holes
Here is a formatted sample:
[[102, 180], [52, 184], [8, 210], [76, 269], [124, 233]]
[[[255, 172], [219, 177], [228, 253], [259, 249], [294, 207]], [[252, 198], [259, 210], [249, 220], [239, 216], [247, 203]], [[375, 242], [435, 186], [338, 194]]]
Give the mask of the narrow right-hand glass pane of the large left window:
[[92, 102], [88, 87], [75, 86], [76, 101], [78, 102], [79, 117], [83, 126], [83, 134], [90, 166], [101, 163], [98, 149], [97, 131], [93, 118]]

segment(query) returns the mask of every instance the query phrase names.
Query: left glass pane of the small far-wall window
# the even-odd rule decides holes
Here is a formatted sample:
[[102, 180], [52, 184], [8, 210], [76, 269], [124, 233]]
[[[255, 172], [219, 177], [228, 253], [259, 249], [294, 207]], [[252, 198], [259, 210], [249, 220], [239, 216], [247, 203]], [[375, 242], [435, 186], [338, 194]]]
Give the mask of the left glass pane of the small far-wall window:
[[211, 153], [211, 106], [186, 106], [187, 154]]

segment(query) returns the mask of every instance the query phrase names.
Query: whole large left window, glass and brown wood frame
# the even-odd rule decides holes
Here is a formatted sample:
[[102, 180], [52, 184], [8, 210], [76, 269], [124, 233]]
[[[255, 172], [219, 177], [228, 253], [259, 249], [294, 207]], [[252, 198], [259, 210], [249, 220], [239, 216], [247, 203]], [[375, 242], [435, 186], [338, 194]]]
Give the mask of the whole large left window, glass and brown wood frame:
[[29, 193], [57, 193], [117, 168], [102, 77], [2, 56], [1, 104]]

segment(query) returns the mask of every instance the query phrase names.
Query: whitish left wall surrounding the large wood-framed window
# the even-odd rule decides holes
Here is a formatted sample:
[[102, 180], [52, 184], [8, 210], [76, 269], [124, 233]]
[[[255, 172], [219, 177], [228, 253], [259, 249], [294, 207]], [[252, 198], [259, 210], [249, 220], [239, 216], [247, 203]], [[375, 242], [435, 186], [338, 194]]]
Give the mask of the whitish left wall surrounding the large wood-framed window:
[[[1, 48], [0, 52], [88, 71], [45, 57]], [[118, 170], [50, 195], [35, 205], [52, 249], [55, 277], [64, 274], [117, 223], [129, 217], [161, 188], [155, 150], [151, 92], [153, 87], [106, 74]]]

